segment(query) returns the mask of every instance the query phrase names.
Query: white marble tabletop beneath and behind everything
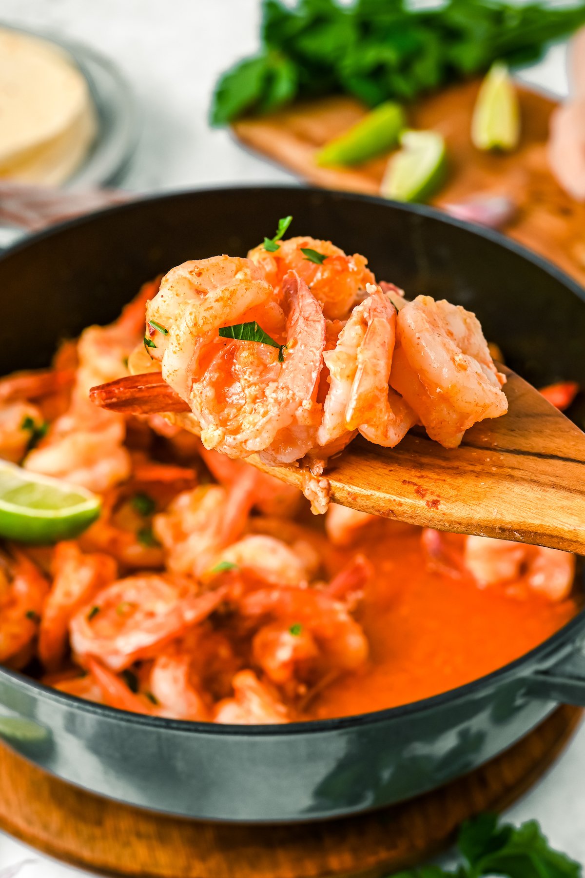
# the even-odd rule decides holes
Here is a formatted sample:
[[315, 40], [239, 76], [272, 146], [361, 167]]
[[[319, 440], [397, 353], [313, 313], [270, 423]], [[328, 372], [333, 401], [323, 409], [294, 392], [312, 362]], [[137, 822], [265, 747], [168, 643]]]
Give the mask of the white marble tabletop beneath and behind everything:
[[[52, 31], [108, 55], [139, 99], [143, 133], [126, 184], [137, 191], [291, 177], [212, 130], [207, 114], [218, 73], [257, 44], [259, 0], [2, 0], [0, 22]], [[565, 94], [565, 49], [554, 47], [523, 78]], [[556, 846], [585, 862], [585, 728], [539, 785], [509, 812], [536, 817]], [[2, 791], [0, 790], [0, 795]], [[0, 868], [28, 859], [22, 878], [86, 874], [31, 853], [0, 833]], [[1, 873], [0, 873], [1, 878]]]

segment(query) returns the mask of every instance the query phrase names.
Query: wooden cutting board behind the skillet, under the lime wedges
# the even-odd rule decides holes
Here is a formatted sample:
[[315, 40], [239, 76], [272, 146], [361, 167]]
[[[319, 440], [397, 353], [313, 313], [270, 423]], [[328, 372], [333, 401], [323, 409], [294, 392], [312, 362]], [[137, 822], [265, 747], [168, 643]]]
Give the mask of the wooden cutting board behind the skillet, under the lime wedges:
[[[483, 153], [474, 148], [470, 137], [478, 88], [475, 81], [454, 85], [410, 109], [411, 127], [431, 128], [446, 138], [450, 173], [432, 204], [442, 207], [479, 194], [513, 198], [517, 218], [505, 231], [585, 285], [585, 204], [577, 204], [560, 189], [546, 159], [554, 101], [519, 87], [519, 147], [510, 155]], [[389, 154], [354, 169], [319, 168], [315, 162], [318, 148], [365, 112], [351, 97], [326, 97], [260, 119], [242, 119], [233, 131], [247, 147], [312, 184], [377, 195]]]

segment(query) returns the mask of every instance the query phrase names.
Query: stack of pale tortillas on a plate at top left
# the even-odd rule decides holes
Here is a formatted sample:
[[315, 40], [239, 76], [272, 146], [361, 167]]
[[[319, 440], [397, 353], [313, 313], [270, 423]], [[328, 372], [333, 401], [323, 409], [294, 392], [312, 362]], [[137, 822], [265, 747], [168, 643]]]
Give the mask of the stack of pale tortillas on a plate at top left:
[[96, 134], [88, 83], [60, 47], [0, 28], [0, 179], [59, 185]]

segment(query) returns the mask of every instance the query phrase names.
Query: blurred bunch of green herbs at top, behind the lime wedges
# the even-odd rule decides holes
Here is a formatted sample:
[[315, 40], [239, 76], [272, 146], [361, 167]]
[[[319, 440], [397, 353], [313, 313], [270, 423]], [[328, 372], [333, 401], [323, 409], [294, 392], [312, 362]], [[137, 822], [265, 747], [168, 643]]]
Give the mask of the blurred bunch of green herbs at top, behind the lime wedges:
[[539, 57], [542, 48], [585, 22], [585, 0], [447, 0], [410, 9], [407, 0], [263, 0], [261, 50], [219, 80], [211, 120], [266, 113], [296, 97], [345, 92], [370, 106], [482, 73], [492, 61]]

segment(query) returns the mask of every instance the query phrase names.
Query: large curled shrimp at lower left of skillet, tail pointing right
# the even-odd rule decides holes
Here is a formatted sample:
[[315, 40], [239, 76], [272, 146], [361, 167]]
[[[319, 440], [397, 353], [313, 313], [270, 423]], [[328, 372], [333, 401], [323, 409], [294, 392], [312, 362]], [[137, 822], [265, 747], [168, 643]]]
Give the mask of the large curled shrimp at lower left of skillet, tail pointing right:
[[71, 647], [82, 661], [97, 656], [112, 671], [156, 656], [161, 647], [207, 618], [225, 592], [198, 594], [196, 583], [143, 574], [103, 588], [69, 623]]

